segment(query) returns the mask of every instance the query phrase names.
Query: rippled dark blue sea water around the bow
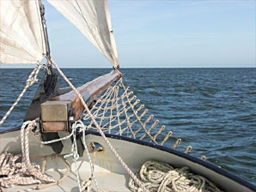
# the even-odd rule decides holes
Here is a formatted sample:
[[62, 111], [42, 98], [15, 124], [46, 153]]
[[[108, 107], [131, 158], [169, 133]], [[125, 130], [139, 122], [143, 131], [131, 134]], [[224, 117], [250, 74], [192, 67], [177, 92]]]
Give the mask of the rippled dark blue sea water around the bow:
[[[21, 93], [30, 71], [0, 69], [0, 117]], [[64, 69], [76, 86], [109, 71]], [[205, 155], [210, 162], [255, 183], [255, 69], [121, 71], [126, 85], [149, 111], [174, 130], [186, 143], [184, 147], [192, 145], [193, 155]], [[21, 125], [38, 84], [28, 89], [1, 129]]]

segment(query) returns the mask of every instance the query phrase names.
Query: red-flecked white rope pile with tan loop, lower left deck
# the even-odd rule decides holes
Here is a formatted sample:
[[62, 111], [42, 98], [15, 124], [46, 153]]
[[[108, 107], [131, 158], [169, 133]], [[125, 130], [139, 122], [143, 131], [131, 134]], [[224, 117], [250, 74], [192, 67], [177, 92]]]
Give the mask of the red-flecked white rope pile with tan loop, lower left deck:
[[[21, 151], [22, 159], [21, 163], [15, 163], [18, 156], [11, 153], [2, 153], [0, 155], [0, 187], [9, 188], [19, 185], [30, 185], [38, 183], [36, 187], [22, 190], [23, 192], [34, 191], [35, 189], [46, 189], [52, 187], [58, 183], [61, 183], [70, 173], [70, 163], [67, 159], [59, 154], [52, 154], [46, 156], [40, 156], [36, 158], [42, 158], [43, 163], [41, 165], [35, 165], [30, 162], [29, 159], [29, 148], [28, 148], [28, 133], [31, 129], [37, 130], [39, 128], [38, 120], [27, 121], [21, 126]], [[64, 176], [55, 181], [52, 177], [45, 175], [46, 159], [62, 159], [66, 165], [66, 171]], [[43, 184], [44, 183], [44, 184]], [[0, 189], [1, 191], [1, 189]], [[20, 191], [21, 192], [21, 191]]]

